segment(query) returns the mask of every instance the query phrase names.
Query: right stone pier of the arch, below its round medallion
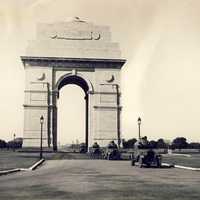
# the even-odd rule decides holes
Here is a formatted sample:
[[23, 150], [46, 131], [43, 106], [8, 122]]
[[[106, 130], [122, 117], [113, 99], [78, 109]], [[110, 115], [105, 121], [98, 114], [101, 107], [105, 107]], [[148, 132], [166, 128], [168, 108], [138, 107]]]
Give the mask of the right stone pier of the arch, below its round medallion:
[[120, 146], [119, 94], [117, 83], [99, 84], [99, 90], [94, 94], [93, 139], [101, 146], [107, 146], [111, 140], [114, 140]]

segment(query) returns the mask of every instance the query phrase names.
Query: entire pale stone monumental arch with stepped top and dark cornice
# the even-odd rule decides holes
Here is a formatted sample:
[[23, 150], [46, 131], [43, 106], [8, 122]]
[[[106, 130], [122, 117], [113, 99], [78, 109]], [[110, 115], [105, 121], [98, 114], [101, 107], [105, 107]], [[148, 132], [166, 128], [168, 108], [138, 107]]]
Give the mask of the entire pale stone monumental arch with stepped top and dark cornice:
[[[85, 93], [85, 143], [106, 146], [121, 142], [118, 43], [107, 26], [75, 17], [67, 22], [38, 24], [21, 60], [25, 69], [23, 147], [40, 146], [40, 117], [44, 116], [43, 146], [57, 150], [57, 101], [62, 87], [75, 84]], [[66, 113], [66, 118], [70, 113]], [[70, 133], [66, 133], [70, 134]]]

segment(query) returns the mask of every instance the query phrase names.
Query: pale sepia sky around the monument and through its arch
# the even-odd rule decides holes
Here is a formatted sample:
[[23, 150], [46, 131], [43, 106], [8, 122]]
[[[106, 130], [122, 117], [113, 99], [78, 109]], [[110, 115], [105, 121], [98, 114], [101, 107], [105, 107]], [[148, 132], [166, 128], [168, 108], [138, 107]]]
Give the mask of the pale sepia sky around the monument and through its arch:
[[[20, 56], [34, 39], [36, 24], [78, 16], [110, 26], [112, 40], [120, 43], [127, 59], [122, 69], [122, 136], [137, 137], [140, 116], [141, 134], [150, 139], [184, 136], [200, 142], [199, 9], [198, 0], [1, 0], [0, 138], [23, 136]], [[84, 138], [84, 101], [79, 88], [66, 88], [59, 104], [59, 137], [70, 142]], [[75, 110], [78, 117], [73, 117]], [[69, 113], [72, 121], [67, 121]]]

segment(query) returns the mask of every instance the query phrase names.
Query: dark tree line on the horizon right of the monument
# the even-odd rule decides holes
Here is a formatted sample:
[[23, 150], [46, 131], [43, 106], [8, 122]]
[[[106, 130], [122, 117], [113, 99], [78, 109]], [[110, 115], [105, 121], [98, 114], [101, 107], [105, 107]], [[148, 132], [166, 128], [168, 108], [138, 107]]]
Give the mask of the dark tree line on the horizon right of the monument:
[[[134, 148], [135, 143], [137, 142], [136, 138], [132, 138], [129, 140], [122, 140], [122, 146], [124, 149]], [[153, 149], [200, 149], [199, 142], [187, 142], [185, 137], [177, 137], [172, 140], [171, 143], [166, 142], [163, 138], [158, 140], [150, 140], [148, 141], [148, 147]]]

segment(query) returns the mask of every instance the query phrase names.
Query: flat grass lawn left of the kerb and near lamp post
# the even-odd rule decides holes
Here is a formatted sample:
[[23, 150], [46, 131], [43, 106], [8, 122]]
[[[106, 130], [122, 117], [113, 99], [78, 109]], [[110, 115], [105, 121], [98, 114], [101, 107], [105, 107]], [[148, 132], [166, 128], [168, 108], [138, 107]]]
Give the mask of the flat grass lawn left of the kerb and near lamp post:
[[28, 168], [38, 160], [38, 154], [0, 150], [0, 170]]

